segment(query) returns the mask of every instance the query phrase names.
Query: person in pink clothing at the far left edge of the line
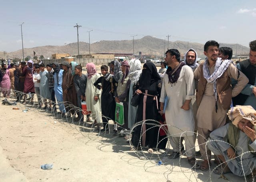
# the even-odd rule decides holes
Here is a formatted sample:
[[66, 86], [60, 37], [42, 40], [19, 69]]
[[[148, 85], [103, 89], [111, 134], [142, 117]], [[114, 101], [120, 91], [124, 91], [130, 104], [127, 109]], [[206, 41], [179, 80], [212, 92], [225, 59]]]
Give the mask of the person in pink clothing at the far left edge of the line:
[[1, 82], [0, 82], [0, 88], [1, 92], [4, 95], [4, 97], [9, 98], [10, 97], [10, 89], [11, 89], [11, 80], [10, 80], [10, 72], [7, 69], [6, 64], [2, 64], [1, 68]]

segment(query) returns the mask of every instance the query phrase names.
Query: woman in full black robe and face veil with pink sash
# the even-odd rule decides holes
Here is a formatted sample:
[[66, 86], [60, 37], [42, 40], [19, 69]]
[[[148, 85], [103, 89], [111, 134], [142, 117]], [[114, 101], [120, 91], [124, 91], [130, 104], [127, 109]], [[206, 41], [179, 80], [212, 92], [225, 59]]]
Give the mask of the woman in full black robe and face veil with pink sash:
[[[158, 88], [159, 80], [161, 78], [156, 70], [156, 66], [151, 62], [145, 63], [138, 81], [138, 90], [136, 90], [136, 94], [139, 94], [140, 98], [135, 123], [146, 119], [157, 120], [157, 96], [158, 92], [160, 92]], [[150, 148], [148, 152], [152, 153], [152, 148], [156, 148], [157, 145], [158, 128], [153, 125], [146, 125], [148, 123], [157, 124], [154, 121], [146, 121], [143, 125], [136, 126], [132, 133], [132, 144], [136, 149], [139, 146], [148, 146]], [[142, 142], [140, 142], [140, 139]]]

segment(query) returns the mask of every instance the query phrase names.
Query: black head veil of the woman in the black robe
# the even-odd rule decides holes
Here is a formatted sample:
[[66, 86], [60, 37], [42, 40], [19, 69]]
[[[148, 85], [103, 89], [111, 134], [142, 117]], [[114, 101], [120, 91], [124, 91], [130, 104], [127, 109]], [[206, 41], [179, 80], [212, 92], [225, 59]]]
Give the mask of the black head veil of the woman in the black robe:
[[157, 72], [156, 66], [151, 62], [145, 63], [139, 80], [140, 90], [149, 90], [150, 85], [158, 80], [161, 80], [161, 78]]

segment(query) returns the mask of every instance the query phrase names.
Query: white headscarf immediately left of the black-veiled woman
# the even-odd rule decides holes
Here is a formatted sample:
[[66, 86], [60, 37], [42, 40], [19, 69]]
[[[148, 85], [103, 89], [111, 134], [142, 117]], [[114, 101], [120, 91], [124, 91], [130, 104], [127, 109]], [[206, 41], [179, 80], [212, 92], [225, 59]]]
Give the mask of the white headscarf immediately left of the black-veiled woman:
[[140, 79], [141, 74], [141, 63], [138, 59], [131, 59], [128, 61], [130, 65], [130, 73], [128, 76], [130, 77], [131, 82], [137, 82]]

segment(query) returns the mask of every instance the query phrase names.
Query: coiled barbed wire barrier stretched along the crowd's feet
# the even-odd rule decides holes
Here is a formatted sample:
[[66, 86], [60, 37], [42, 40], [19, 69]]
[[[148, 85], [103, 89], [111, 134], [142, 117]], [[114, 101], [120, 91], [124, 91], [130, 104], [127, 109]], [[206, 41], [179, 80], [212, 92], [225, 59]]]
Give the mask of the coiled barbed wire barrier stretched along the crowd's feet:
[[[42, 108], [40, 107], [41, 105], [38, 104], [38, 94], [34, 94], [32, 98], [29, 99], [27, 94], [24, 94], [23, 92], [19, 92], [16, 90], [10, 91], [8, 89], [5, 90], [4, 88], [0, 88], [0, 90], [2, 90], [2, 92], [4, 93], [10, 92], [10, 98], [4, 98], [1, 94], [0, 98], [1, 100], [3, 100], [2, 104], [14, 105], [16, 107], [21, 108], [22, 112], [38, 112], [42, 116], [50, 117], [52, 118], [52, 121], [54, 121], [54, 123], [58, 121], [64, 126], [64, 128], [66, 128], [69, 131], [73, 132], [75, 129], [77, 132], [76, 133], [73, 132], [72, 134], [77, 136], [77, 139], [82, 140], [86, 145], [96, 146], [97, 149], [104, 152], [114, 151], [118, 153], [123, 153], [124, 156], [122, 156], [121, 159], [128, 162], [128, 164], [141, 166], [144, 168], [146, 172], [163, 174], [166, 180], [168, 180], [169, 182], [179, 181], [179, 180], [176, 180], [178, 179], [177, 174], [178, 176], [182, 174], [182, 176], [184, 176], [189, 182], [198, 181], [198, 180], [209, 181], [209, 182], [219, 181], [218, 178], [223, 178], [223, 180], [224, 179], [229, 180], [229, 178], [233, 178], [238, 181], [244, 180], [247, 182], [248, 179], [246, 178], [246, 175], [253, 174], [253, 171], [256, 165], [256, 164], [252, 165], [251, 163], [248, 164], [248, 162], [243, 158], [244, 155], [247, 155], [251, 152], [242, 151], [242, 154], [236, 156], [234, 159], [226, 160], [226, 162], [234, 162], [234, 160], [236, 160], [236, 162], [240, 165], [242, 169], [240, 171], [241, 177], [235, 176], [234, 174], [231, 174], [231, 173], [225, 174], [225, 175], [214, 174], [214, 170], [216, 168], [222, 169], [225, 167], [226, 163], [222, 162], [221, 160], [219, 160], [220, 164], [217, 164], [217, 166], [215, 167], [211, 166], [210, 162], [208, 162], [209, 170], [203, 172], [202, 174], [202, 171], [200, 169], [196, 169], [195, 166], [192, 167], [190, 166], [190, 164], [188, 164], [186, 159], [186, 153], [188, 151], [182, 150], [182, 146], [184, 146], [184, 144], [182, 143], [183, 138], [186, 138], [186, 135], [188, 133], [191, 134], [194, 132], [182, 131], [176, 126], [162, 124], [159, 121], [147, 119], [147, 120], [135, 123], [130, 129], [130, 131], [128, 131], [127, 129], [123, 129], [122, 126], [119, 126], [119, 128], [122, 129], [120, 133], [112, 134], [110, 131], [114, 125], [113, 121], [109, 121], [108, 123], [106, 123], [109, 128], [108, 130], [102, 129], [101, 127], [97, 128], [97, 126], [100, 125], [100, 123], [98, 123], [95, 120], [92, 120], [91, 122], [82, 121], [81, 118], [78, 118], [78, 112], [82, 112], [83, 110], [81, 108], [78, 108], [72, 105], [69, 102], [52, 104], [52, 108], [49, 108], [47, 105], [46, 110], [42, 110]], [[44, 101], [46, 100], [46, 98], [42, 98], [42, 96], [39, 96], [39, 97], [41, 100], [43, 100], [43, 104], [45, 104]], [[24, 98], [26, 101], [24, 100]], [[61, 107], [62, 105], [64, 105], [64, 108], [66, 108], [66, 114], [62, 114], [59, 110], [59, 107]], [[84, 117], [86, 120], [87, 119], [86, 115], [84, 115]], [[96, 115], [94, 115], [94, 112], [91, 111], [90, 117], [96, 118]], [[105, 117], [105, 116], [102, 115], [102, 117]], [[105, 117], [105, 118], [107, 120], [111, 120], [108, 117]], [[145, 131], [142, 130], [142, 125], [146, 125], [147, 129]], [[172, 151], [170, 140], [174, 136], [168, 132], [168, 128], [170, 127], [175, 127], [176, 129], [180, 130], [180, 133], [175, 134], [175, 137], [177, 135], [180, 136], [179, 137], [180, 138], [180, 157], [177, 159], [170, 159], [168, 157], [168, 155], [170, 155], [170, 152]], [[131, 140], [132, 138], [131, 136], [136, 129], [140, 130], [138, 146], [134, 146]], [[163, 137], [160, 137], [161, 129], [165, 133], [165, 136]], [[146, 133], [149, 132], [150, 130], [156, 131], [156, 147], [153, 148], [152, 153], [148, 153], [147, 151], [148, 147], [142, 145], [143, 135], [146, 135]], [[78, 134], [81, 134], [81, 135], [78, 136]], [[128, 136], [129, 138], [128, 140], [123, 139], [125, 135]], [[194, 133], [194, 135], [196, 136], [197, 133]], [[164, 141], [166, 142], [166, 146], [165, 146], [164, 152], [160, 153], [159, 146]], [[206, 142], [203, 143], [202, 145], [205, 146], [205, 149], [206, 149], [208, 143], [212, 143], [212, 142], [227, 143], [220, 140], [206, 140]], [[233, 147], [232, 145], [230, 146]], [[195, 149], [196, 147], [198, 148], [199, 146], [195, 145], [193, 149]], [[197, 158], [198, 160], [201, 160], [201, 157], [197, 157], [197, 156], [194, 156], [194, 157]], [[255, 161], [256, 158], [252, 160]], [[183, 180], [184, 180], [184, 177], [183, 177]]]

